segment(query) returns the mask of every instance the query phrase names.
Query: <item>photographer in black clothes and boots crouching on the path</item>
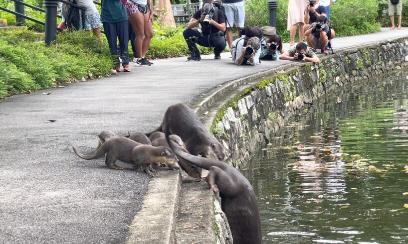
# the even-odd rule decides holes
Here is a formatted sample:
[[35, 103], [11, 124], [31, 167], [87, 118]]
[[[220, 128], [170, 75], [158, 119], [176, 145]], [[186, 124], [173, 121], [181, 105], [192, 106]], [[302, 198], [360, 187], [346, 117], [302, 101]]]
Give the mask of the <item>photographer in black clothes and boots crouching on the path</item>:
[[[204, 47], [214, 47], [214, 59], [221, 59], [220, 53], [225, 49], [226, 42], [224, 38], [225, 18], [222, 10], [212, 4], [213, 0], [203, 0], [203, 7], [197, 10], [191, 18], [187, 29], [183, 35], [186, 39], [192, 55], [189, 60], [200, 60], [200, 51], [196, 46], [198, 43]], [[193, 29], [201, 24], [200, 32]]]

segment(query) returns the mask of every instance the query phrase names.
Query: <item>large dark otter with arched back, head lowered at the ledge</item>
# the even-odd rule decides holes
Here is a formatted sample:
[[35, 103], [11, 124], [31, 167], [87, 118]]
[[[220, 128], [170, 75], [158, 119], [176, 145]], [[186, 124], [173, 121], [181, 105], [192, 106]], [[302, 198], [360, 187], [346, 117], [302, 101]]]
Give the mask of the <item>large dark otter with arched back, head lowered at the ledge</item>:
[[221, 144], [209, 133], [197, 114], [188, 106], [184, 104], [170, 106], [164, 115], [162, 124], [146, 135], [150, 136], [157, 131], [166, 133], [167, 130], [170, 131], [170, 134], [180, 136], [191, 154], [224, 160], [225, 154]]

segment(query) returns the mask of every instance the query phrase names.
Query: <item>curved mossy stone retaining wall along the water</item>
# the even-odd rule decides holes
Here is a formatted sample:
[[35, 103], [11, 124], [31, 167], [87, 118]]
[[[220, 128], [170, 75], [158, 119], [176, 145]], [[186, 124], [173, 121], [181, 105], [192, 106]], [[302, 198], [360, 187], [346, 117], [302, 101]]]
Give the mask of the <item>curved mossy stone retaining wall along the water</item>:
[[348, 49], [321, 58], [320, 64], [276, 72], [237, 94], [218, 111], [211, 132], [224, 146], [228, 163], [244, 167], [251, 154], [304, 104], [346, 83], [408, 67], [408, 38]]

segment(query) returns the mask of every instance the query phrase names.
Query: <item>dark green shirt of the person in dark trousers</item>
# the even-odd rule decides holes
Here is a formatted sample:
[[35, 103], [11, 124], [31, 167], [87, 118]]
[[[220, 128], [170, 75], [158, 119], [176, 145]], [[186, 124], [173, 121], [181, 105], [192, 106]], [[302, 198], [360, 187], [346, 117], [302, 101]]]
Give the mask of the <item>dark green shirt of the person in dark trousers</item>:
[[121, 0], [103, 0], [101, 7], [101, 21], [108, 23], [120, 22], [128, 19], [125, 6]]

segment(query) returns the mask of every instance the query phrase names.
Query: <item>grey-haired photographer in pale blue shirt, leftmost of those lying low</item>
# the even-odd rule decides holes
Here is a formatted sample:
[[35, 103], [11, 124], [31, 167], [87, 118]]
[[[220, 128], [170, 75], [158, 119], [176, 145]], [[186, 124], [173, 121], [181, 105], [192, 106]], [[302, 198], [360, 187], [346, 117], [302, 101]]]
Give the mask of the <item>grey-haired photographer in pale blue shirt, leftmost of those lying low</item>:
[[261, 44], [259, 37], [251, 37], [249, 39], [242, 35], [241, 38], [232, 42], [231, 55], [232, 61], [236, 65], [259, 64], [259, 56], [261, 54]]

